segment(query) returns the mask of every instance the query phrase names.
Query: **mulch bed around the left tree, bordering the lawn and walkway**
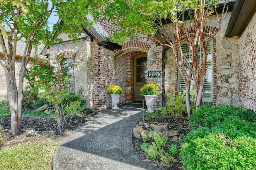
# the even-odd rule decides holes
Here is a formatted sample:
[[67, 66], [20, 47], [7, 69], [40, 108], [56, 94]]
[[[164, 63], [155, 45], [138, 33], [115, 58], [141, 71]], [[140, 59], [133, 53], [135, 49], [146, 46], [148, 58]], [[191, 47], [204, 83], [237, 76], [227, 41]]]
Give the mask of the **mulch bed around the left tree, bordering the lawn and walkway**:
[[[94, 115], [98, 113], [98, 110], [86, 109], [81, 114], [76, 114], [73, 116], [70, 125], [67, 125], [62, 133], [57, 129], [56, 118], [47, 117], [36, 117], [30, 115], [22, 115], [21, 129], [17, 134], [10, 134], [9, 130], [11, 127], [11, 117], [2, 118], [2, 137], [4, 143], [0, 143], [0, 147], [6, 145], [16, 145], [17, 143], [22, 143], [26, 141], [37, 141], [46, 138], [52, 139], [62, 139], [66, 137], [72, 130], [76, 129]], [[36, 136], [29, 135], [29, 131], [34, 129], [37, 131]]]

